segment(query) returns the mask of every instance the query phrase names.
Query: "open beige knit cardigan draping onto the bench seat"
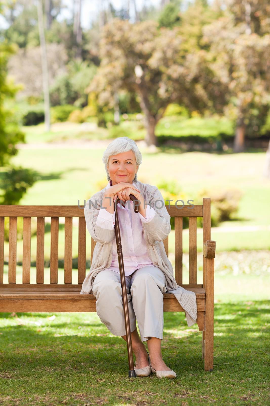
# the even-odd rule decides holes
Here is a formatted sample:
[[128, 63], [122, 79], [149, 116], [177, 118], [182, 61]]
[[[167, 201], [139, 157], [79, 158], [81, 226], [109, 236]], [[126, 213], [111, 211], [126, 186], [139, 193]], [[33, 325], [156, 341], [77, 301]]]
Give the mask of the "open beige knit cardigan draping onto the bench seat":
[[[144, 229], [147, 253], [152, 263], [160, 268], [166, 276], [166, 293], [174, 294], [178, 302], [185, 310], [187, 325], [192, 326], [197, 319], [196, 294], [177, 285], [173, 276], [173, 268], [164, 248], [163, 240], [171, 231], [170, 214], [168, 213], [162, 194], [156, 186], [134, 182], [140, 190], [140, 194], [155, 210], [155, 216], [149, 222], [142, 222]], [[105, 188], [95, 193], [85, 204], [84, 214], [87, 229], [91, 237], [96, 241], [93, 259], [89, 273], [85, 276], [81, 294], [91, 294], [93, 281], [96, 274], [110, 268], [112, 263], [112, 242], [115, 238], [115, 230], [103, 229], [96, 225], [98, 211], [102, 205]], [[89, 208], [89, 200], [91, 207]], [[157, 201], [156, 205], [154, 202]], [[95, 205], [97, 208], [95, 208]], [[157, 206], [157, 207], [156, 207]], [[122, 237], [122, 236], [121, 236]]]

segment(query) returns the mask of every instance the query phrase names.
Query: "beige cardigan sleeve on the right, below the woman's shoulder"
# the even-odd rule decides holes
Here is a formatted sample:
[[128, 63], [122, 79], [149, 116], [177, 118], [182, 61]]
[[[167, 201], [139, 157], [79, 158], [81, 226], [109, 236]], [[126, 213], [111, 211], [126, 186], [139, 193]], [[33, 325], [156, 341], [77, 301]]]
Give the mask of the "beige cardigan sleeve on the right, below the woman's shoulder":
[[162, 194], [157, 188], [147, 203], [155, 210], [155, 215], [149, 222], [142, 222], [142, 227], [149, 244], [156, 245], [159, 241], [165, 240], [170, 234], [170, 214], [165, 207]]

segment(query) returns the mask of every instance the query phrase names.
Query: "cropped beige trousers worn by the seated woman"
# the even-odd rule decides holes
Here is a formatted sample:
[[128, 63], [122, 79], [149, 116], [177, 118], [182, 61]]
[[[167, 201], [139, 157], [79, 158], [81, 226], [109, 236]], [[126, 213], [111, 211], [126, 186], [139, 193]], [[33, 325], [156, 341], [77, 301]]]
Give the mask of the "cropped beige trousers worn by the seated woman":
[[[105, 269], [96, 275], [92, 292], [96, 298], [97, 314], [114, 335], [125, 335], [120, 274]], [[163, 339], [163, 293], [166, 277], [157, 266], [144, 266], [125, 276], [130, 315], [130, 331], [136, 319], [142, 341], [149, 337]]]

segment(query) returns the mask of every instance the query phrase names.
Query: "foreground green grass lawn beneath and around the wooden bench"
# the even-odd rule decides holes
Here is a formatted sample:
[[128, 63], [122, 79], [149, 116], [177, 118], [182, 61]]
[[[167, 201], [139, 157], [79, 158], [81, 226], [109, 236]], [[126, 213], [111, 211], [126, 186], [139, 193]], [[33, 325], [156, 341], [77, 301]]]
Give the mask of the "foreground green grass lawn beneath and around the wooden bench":
[[174, 380], [128, 378], [126, 342], [96, 313], [0, 313], [0, 404], [269, 405], [269, 272], [225, 268], [215, 272], [213, 371], [185, 313], [164, 313]]

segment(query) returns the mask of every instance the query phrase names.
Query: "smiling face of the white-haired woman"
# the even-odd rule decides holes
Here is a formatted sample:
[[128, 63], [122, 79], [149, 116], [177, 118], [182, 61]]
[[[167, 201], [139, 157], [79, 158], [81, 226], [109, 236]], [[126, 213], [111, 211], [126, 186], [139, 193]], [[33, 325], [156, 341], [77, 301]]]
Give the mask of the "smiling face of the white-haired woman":
[[113, 186], [120, 182], [132, 184], [138, 170], [134, 152], [128, 151], [119, 153], [118, 155], [111, 155], [108, 160], [107, 168]]

